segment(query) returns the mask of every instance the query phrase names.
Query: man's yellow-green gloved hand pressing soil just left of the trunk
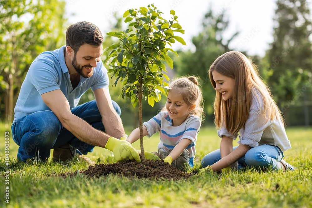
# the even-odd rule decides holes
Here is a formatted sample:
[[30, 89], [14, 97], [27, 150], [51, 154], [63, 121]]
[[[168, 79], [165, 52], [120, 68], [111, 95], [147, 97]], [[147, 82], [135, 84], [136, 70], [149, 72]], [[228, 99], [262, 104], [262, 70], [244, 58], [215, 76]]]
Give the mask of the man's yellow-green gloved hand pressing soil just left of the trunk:
[[105, 145], [105, 148], [114, 153], [115, 159], [118, 162], [133, 159], [135, 159], [136, 162], [141, 162], [139, 153], [127, 141], [110, 137]]

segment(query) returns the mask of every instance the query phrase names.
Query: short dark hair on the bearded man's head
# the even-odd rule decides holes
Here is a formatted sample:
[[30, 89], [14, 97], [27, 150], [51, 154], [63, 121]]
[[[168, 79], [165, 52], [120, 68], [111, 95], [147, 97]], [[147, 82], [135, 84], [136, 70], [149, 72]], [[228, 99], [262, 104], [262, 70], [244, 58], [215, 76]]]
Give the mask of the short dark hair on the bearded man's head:
[[69, 26], [66, 31], [66, 46], [71, 46], [75, 53], [85, 43], [100, 46], [103, 41], [99, 27], [91, 22], [77, 22]]

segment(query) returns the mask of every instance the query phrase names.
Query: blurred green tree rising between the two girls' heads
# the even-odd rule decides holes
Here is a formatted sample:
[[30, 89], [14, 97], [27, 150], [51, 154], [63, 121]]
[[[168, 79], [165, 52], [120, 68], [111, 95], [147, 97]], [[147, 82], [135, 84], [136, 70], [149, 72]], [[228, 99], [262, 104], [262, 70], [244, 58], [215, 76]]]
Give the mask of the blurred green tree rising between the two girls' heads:
[[207, 71], [218, 56], [231, 51], [229, 45], [238, 32], [235, 32], [230, 39], [224, 39], [223, 34], [227, 31], [228, 25], [229, 21], [224, 13], [214, 16], [210, 9], [203, 19], [202, 32], [192, 39], [196, 47], [195, 52], [179, 52], [179, 58], [174, 59], [175, 70], [179, 75], [196, 75], [202, 79], [206, 121], [211, 123], [214, 120], [212, 104], [216, 92], [210, 84]]

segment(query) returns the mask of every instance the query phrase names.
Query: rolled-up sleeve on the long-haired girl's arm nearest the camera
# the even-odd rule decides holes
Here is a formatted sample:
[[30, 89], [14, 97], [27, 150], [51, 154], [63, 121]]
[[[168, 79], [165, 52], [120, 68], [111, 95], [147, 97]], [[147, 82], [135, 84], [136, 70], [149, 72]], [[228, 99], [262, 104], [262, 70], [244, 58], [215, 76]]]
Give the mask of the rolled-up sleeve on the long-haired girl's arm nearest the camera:
[[250, 110], [244, 132], [240, 137], [240, 143], [250, 147], [259, 146], [263, 131], [269, 125], [269, 119], [265, 118], [263, 109]]

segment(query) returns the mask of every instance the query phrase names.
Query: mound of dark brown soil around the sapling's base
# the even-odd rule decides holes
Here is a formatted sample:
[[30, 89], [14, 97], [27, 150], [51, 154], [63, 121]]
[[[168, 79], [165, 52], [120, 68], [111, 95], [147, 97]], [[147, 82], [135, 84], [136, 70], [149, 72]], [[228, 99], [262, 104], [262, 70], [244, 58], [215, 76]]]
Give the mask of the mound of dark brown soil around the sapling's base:
[[193, 173], [180, 171], [178, 168], [169, 165], [162, 160], [145, 160], [141, 163], [136, 161], [117, 162], [112, 164], [96, 164], [89, 166], [87, 170], [61, 173], [58, 176], [66, 178], [83, 174], [87, 177], [100, 177], [109, 174], [124, 175], [126, 177], [148, 178], [148, 179], [188, 179]]

